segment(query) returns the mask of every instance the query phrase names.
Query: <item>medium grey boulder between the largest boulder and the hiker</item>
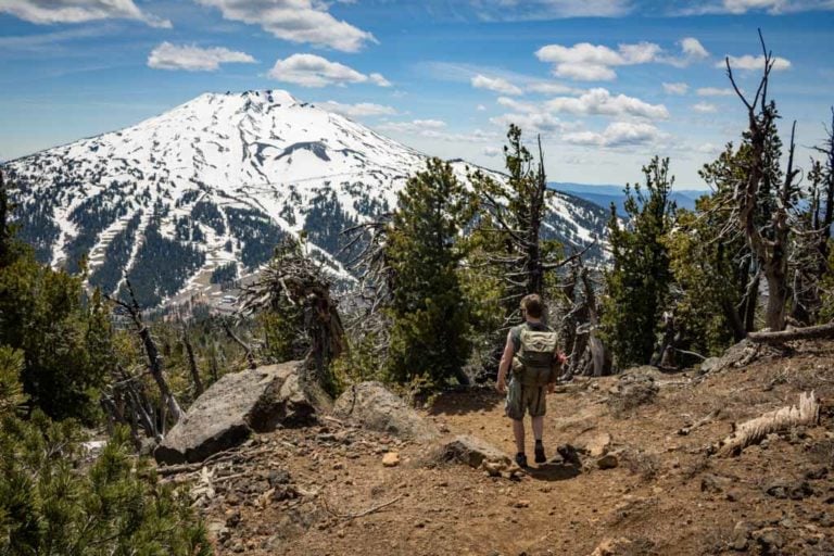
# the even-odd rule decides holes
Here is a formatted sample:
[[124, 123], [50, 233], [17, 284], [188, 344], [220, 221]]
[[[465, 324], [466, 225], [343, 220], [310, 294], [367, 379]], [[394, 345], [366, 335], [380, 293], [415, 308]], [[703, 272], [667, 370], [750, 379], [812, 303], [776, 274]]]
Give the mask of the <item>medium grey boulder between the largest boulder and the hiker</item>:
[[336, 401], [333, 414], [367, 429], [407, 440], [426, 442], [440, 437], [433, 424], [420, 417], [381, 382], [352, 386]]

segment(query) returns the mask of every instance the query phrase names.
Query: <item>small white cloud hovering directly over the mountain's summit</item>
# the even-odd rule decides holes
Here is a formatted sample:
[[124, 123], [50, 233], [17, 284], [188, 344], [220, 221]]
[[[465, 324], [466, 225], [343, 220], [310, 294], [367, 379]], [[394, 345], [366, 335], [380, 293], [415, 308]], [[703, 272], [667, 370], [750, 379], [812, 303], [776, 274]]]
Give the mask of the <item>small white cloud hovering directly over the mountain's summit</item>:
[[278, 60], [267, 75], [278, 81], [292, 83], [302, 87], [344, 86], [367, 81], [380, 87], [391, 85], [379, 74], [371, 74], [376, 75], [376, 78], [367, 76], [344, 64], [331, 62], [315, 54], [292, 54], [285, 60]]

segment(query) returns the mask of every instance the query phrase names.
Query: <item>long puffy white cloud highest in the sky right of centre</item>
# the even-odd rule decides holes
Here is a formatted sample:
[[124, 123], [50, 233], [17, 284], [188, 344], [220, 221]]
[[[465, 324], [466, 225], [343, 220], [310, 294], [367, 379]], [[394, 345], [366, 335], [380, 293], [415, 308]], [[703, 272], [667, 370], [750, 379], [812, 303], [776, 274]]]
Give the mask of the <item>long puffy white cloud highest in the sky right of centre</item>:
[[617, 50], [603, 45], [580, 42], [572, 47], [547, 45], [535, 55], [542, 62], [554, 64], [553, 74], [581, 81], [609, 81], [617, 78], [614, 67], [662, 63], [684, 67], [709, 56], [704, 46], [693, 37], [680, 42], [681, 55], [671, 55], [654, 42], [618, 45]]

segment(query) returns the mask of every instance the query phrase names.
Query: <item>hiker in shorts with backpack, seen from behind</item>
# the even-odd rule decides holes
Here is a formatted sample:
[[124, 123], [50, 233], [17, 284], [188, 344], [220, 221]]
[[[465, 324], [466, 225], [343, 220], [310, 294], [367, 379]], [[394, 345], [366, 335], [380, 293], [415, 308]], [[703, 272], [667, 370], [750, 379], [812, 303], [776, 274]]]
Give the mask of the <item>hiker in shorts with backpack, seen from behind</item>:
[[[535, 438], [535, 463], [547, 460], [544, 455], [542, 434], [544, 414], [547, 410], [547, 393], [553, 393], [558, 370], [565, 355], [558, 352], [558, 333], [542, 323], [544, 304], [536, 294], [521, 300], [521, 315], [525, 323], [509, 330], [504, 355], [498, 366], [498, 392], [506, 392], [505, 410], [513, 419], [513, 434], [516, 437], [516, 463], [527, 467], [525, 454], [525, 413], [529, 413]], [[507, 372], [513, 369], [507, 387]]]

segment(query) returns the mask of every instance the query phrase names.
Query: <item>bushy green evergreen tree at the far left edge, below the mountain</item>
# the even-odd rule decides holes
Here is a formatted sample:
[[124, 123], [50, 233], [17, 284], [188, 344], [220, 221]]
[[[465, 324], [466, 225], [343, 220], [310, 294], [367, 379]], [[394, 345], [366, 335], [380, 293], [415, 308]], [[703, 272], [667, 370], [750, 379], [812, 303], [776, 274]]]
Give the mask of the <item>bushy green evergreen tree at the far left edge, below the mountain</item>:
[[14, 238], [10, 212], [0, 188], [0, 345], [23, 354], [21, 380], [34, 405], [54, 418], [92, 421], [109, 370], [111, 330], [100, 300], [85, 303], [81, 276], [40, 264]]

